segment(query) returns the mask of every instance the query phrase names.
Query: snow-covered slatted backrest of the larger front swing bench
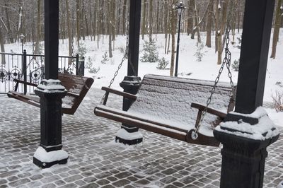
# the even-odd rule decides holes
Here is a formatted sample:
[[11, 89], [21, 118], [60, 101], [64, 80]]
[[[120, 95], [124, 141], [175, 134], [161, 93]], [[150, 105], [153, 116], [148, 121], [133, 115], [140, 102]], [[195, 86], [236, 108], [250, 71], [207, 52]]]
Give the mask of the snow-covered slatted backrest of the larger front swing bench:
[[[170, 76], [144, 76], [137, 100], [129, 108], [129, 112], [137, 113], [140, 117], [153, 118], [165, 124], [178, 124], [184, 128], [187, 124], [195, 126], [197, 110], [190, 107], [192, 102], [206, 105], [213, 81], [200, 81], [190, 78]], [[218, 83], [209, 107], [227, 112], [233, 110], [231, 104], [231, 86], [229, 83]], [[211, 127], [215, 116], [207, 114], [203, 124]]]

